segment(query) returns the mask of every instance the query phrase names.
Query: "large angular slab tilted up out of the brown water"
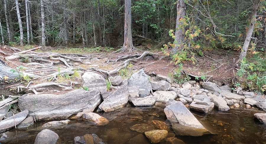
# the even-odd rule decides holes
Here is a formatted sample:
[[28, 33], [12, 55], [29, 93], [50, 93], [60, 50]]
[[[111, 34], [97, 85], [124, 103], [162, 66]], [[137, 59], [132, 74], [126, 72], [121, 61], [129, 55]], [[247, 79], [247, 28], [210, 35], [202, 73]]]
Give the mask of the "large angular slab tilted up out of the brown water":
[[169, 120], [179, 122], [181, 125], [205, 129], [182, 102], [172, 102], [164, 109], [164, 113]]

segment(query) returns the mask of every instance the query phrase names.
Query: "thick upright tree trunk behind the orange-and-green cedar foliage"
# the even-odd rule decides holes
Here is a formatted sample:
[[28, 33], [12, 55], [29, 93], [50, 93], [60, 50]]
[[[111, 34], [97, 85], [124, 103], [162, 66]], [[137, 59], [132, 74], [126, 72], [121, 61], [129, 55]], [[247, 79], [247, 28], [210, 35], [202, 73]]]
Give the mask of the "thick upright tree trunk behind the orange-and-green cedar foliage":
[[185, 3], [184, 0], [177, 0], [177, 15], [176, 15], [176, 32], [175, 32], [175, 47], [171, 50], [171, 53], [176, 54], [177, 50], [182, 50], [182, 41], [184, 40], [184, 30], [181, 28], [183, 22], [181, 19], [185, 16]]

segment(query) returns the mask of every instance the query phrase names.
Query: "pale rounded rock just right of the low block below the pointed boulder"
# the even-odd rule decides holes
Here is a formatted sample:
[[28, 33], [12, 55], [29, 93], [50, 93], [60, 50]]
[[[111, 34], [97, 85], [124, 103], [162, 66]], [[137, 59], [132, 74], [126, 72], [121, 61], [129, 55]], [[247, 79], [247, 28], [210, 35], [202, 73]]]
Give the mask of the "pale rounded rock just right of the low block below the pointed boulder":
[[174, 91], [155, 91], [153, 96], [156, 102], [168, 102], [169, 99], [175, 99], [177, 94]]

